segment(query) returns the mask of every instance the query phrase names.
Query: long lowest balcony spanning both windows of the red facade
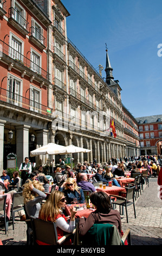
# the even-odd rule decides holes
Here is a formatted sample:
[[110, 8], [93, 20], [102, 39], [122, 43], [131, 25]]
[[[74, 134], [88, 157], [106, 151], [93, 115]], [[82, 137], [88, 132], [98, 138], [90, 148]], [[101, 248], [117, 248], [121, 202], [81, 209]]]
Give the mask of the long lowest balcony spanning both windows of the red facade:
[[3, 102], [3, 106], [7, 104], [10, 105], [10, 107], [15, 106], [16, 108], [23, 108], [28, 113], [29, 111], [32, 111], [38, 114], [46, 115], [47, 117], [51, 117], [51, 108], [3, 88], [0, 89], [0, 102]]

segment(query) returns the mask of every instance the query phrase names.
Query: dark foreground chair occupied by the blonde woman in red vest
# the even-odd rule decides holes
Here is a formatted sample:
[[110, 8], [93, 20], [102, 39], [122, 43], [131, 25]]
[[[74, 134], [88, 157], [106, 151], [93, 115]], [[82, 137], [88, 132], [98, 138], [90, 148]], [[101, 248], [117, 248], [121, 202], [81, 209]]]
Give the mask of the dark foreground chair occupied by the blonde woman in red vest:
[[74, 229], [73, 233], [64, 235], [58, 240], [56, 224], [54, 222], [42, 221], [34, 216], [30, 216], [30, 219], [33, 229], [34, 245], [38, 245], [38, 241], [48, 245], [61, 245], [75, 234]]

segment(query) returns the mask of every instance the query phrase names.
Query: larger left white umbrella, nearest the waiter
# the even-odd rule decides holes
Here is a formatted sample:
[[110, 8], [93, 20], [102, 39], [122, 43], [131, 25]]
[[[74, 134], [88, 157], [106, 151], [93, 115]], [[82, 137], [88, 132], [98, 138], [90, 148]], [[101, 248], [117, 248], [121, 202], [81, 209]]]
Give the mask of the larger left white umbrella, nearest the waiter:
[[30, 151], [30, 156], [38, 156], [38, 155], [46, 155], [46, 154], [49, 154], [49, 155], [66, 154], [66, 147], [55, 144], [55, 143], [48, 143], [47, 145], [44, 145], [41, 148]]

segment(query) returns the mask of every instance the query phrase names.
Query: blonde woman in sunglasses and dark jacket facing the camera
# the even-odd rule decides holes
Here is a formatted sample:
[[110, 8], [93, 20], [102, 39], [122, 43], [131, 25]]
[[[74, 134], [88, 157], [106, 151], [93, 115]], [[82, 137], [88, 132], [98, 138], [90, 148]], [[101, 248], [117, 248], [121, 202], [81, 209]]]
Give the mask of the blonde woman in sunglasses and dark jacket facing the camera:
[[64, 193], [68, 204], [72, 204], [74, 198], [76, 198], [77, 203], [79, 204], [85, 203], [85, 196], [82, 188], [77, 186], [76, 181], [73, 178], [68, 178], [62, 184], [60, 190]]

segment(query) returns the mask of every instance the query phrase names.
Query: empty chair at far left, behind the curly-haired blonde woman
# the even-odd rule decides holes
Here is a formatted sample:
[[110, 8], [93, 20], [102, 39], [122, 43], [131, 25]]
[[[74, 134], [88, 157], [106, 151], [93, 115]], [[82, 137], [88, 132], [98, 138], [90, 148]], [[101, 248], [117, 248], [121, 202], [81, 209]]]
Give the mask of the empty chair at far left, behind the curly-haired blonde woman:
[[12, 204], [11, 204], [11, 216], [12, 216], [12, 226], [14, 229], [14, 221], [15, 221], [15, 212], [24, 210], [24, 197], [23, 192], [17, 192], [13, 194]]

